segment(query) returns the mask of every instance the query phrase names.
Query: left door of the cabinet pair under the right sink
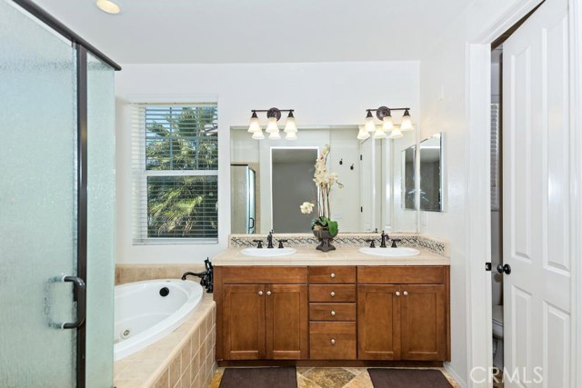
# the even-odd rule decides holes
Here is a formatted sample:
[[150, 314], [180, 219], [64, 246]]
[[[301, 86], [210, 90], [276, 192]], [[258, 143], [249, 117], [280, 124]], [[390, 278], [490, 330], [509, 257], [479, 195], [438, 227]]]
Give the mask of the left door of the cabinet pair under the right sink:
[[401, 300], [397, 284], [357, 286], [358, 359], [400, 359]]

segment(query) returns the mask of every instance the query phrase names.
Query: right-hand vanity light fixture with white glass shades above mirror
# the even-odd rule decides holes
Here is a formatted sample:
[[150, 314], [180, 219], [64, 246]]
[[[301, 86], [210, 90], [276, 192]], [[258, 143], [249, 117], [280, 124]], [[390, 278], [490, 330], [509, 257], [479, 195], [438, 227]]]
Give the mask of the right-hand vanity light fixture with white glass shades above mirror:
[[[394, 124], [392, 121], [392, 111], [404, 111], [402, 121], [400, 124]], [[375, 139], [397, 139], [402, 137], [405, 131], [412, 131], [412, 119], [410, 117], [410, 108], [388, 108], [387, 106], [380, 106], [377, 109], [366, 109], [366, 119], [364, 125], [360, 125], [357, 133], [358, 140], [366, 140], [370, 137], [370, 133], [374, 133]], [[376, 125], [372, 112], [376, 112], [378, 120], [382, 121], [382, 125]], [[387, 133], [390, 133], [389, 135]]]

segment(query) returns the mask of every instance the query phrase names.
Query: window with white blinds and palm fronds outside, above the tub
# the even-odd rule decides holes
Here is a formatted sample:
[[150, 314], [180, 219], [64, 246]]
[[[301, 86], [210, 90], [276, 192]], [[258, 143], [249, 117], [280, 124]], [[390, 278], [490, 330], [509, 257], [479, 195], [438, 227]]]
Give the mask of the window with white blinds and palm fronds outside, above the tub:
[[216, 104], [134, 104], [134, 244], [218, 236]]

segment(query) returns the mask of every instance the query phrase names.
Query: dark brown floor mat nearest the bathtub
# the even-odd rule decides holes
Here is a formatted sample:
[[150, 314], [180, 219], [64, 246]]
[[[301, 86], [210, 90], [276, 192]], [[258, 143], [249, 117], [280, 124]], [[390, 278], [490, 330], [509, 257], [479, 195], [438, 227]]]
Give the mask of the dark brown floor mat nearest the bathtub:
[[226, 368], [219, 388], [297, 388], [295, 368]]

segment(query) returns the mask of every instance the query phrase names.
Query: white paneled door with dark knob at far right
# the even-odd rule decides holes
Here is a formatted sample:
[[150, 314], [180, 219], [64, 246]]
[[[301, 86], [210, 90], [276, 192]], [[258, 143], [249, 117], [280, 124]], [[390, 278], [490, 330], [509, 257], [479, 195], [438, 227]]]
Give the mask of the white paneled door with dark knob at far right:
[[567, 30], [567, 1], [547, 0], [503, 46], [509, 388], [570, 385]]

